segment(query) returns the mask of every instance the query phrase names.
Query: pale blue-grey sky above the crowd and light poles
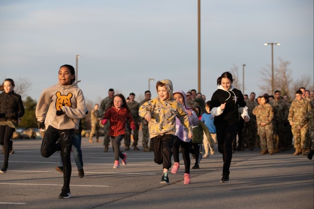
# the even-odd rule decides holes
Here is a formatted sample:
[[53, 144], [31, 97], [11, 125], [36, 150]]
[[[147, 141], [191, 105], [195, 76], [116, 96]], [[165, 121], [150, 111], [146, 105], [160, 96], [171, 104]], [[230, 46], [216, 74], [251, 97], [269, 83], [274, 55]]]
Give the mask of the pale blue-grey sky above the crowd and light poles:
[[[259, 89], [262, 69], [291, 62], [294, 79], [314, 77], [313, 0], [201, 0], [201, 91], [235, 65], [245, 91]], [[57, 83], [63, 64], [76, 66], [86, 99], [109, 88], [143, 95], [170, 79], [175, 90], [196, 89], [197, 0], [0, 0], [0, 79], [27, 77], [37, 100]], [[242, 90], [240, 88], [240, 90]], [[135, 98], [136, 100], [136, 98]]]

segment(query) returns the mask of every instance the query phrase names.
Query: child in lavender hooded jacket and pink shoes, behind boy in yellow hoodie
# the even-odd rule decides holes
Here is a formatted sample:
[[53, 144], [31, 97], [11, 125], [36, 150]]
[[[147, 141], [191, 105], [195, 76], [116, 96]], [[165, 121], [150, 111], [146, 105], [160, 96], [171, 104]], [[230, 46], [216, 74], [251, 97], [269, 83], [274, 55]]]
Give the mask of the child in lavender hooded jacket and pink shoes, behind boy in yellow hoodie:
[[[173, 93], [174, 99], [181, 104], [183, 110], [187, 113], [189, 122], [192, 126], [198, 124], [198, 116], [192, 110], [191, 107], [186, 105], [186, 95], [183, 91], [175, 91]], [[180, 119], [176, 117], [176, 134], [172, 147], [173, 158], [175, 160], [174, 165], [172, 166], [171, 173], [176, 174], [178, 169], [180, 168], [180, 160], [179, 160], [179, 147], [182, 147], [182, 157], [184, 161], [184, 184], [190, 184], [190, 148], [191, 148], [191, 139], [188, 138], [188, 130], [184, 129], [183, 124], [180, 122]]]

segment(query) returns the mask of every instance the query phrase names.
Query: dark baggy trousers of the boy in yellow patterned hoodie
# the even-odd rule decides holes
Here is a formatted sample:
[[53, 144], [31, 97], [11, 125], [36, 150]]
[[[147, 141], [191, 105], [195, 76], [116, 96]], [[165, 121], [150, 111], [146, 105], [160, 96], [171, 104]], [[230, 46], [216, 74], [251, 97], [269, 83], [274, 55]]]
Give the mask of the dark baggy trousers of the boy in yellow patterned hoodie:
[[169, 169], [171, 167], [171, 149], [174, 137], [172, 134], [165, 134], [152, 138], [154, 140], [154, 161], [157, 164], [162, 164], [162, 169]]

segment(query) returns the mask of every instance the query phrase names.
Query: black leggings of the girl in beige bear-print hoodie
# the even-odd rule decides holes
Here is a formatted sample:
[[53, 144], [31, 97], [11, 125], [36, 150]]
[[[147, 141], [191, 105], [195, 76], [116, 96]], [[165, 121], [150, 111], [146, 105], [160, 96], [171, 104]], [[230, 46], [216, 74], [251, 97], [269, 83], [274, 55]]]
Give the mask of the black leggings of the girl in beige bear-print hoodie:
[[[56, 144], [60, 138], [60, 145]], [[71, 148], [74, 138], [74, 129], [58, 130], [49, 126], [44, 135], [40, 152], [44, 158], [49, 158], [53, 153], [60, 150], [60, 156], [63, 164], [63, 186], [70, 187], [71, 180]], [[60, 149], [61, 146], [61, 149]]]

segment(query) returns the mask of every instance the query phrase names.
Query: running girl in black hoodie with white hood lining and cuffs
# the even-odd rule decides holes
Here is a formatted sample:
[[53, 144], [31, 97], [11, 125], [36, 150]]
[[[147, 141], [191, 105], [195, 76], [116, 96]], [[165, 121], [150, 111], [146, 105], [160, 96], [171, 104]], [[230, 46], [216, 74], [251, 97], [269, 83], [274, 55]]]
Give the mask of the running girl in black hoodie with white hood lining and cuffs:
[[212, 94], [210, 113], [214, 116], [218, 151], [223, 157], [223, 171], [220, 182], [229, 182], [229, 168], [232, 160], [232, 141], [235, 138], [239, 123], [239, 115], [245, 122], [250, 117], [247, 114], [246, 103], [241, 91], [232, 84], [234, 79], [230, 72], [224, 72], [217, 78], [217, 90]]

